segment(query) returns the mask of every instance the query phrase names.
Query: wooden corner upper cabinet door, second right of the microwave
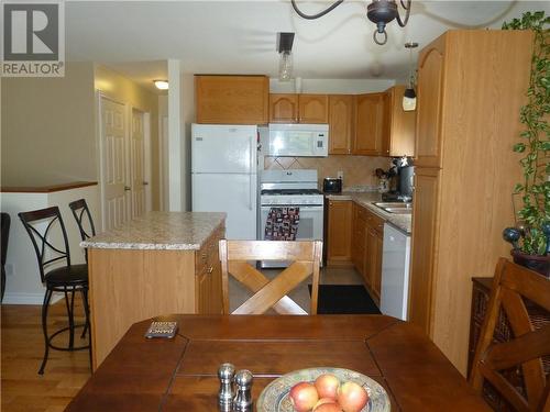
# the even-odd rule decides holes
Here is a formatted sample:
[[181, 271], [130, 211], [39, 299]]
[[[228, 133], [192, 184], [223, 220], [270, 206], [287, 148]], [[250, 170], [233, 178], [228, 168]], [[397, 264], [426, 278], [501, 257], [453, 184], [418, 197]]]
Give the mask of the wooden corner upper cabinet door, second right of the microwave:
[[383, 155], [384, 93], [356, 97], [354, 155]]

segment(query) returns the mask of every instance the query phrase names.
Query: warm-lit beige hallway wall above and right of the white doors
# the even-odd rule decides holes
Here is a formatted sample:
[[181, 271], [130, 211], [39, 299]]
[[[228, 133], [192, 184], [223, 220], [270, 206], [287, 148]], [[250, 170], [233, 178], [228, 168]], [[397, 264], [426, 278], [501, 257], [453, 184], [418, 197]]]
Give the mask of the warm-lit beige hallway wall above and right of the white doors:
[[151, 191], [153, 210], [160, 209], [158, 174], [158, 97], [129, 78], [96, 65], [95, 89], [109, 98], [151, 114]]

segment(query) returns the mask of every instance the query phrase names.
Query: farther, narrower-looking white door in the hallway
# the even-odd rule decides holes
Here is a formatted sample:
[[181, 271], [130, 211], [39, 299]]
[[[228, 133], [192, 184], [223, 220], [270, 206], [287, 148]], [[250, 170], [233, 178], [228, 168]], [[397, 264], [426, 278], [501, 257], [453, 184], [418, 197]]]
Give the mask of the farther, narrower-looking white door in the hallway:
[[132, 110], [132, 134], [130, 136], [130, 166], [131, 166], [131, 193], [132, 219], [145, 212], [145, 181], [144, 177], [144, 114]]

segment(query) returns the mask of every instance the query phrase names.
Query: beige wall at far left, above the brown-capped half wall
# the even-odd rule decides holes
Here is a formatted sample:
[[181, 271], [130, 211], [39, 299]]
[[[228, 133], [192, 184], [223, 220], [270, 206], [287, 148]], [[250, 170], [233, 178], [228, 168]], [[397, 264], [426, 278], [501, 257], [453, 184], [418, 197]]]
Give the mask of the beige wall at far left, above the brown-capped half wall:
[[94, 65], [61, 78], [2, 78], [1, 182], [97, 180]]

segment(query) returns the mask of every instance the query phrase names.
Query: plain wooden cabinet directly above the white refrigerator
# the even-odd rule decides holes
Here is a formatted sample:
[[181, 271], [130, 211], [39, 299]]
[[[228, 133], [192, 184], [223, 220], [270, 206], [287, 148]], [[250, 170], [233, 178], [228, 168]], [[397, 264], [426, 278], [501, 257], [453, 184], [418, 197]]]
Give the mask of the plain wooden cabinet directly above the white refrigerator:
[[265, 124], [270, 80], [266, 76], [195, 76], [197, 123]]

